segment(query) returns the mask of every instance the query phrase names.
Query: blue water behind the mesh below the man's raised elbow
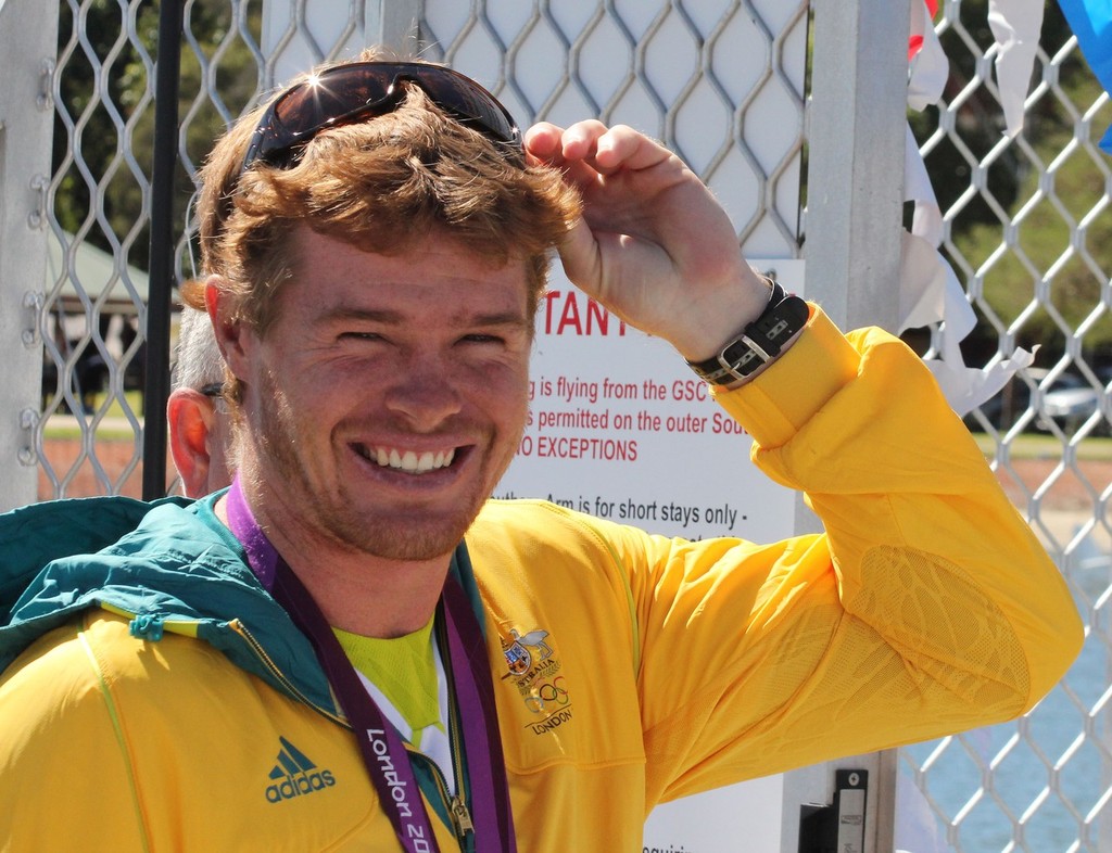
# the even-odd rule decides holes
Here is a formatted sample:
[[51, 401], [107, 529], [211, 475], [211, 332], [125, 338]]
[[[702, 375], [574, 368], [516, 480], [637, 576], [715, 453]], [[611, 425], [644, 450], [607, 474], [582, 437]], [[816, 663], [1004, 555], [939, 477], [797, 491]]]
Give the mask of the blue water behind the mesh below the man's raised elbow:
[[[1089, 625], [1078, 661], [1024, 719], [903, 750], [897, 850], [1112, 851], [1110, 560], [1079, 548], [1071, 563], [1068, 576]], [[925, 770], [925, 799], [916, 769]]]

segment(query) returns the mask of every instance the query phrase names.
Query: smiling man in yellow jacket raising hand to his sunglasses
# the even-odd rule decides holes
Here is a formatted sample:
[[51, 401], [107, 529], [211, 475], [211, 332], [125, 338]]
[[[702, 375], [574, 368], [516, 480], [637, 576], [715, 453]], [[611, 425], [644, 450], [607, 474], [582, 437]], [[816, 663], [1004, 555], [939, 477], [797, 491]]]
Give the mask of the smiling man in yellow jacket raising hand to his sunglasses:
[[[754, 274], [658, 143], [523, 139], [467, 78], [363, 61], [247, 117], [202, 178], [185, 298], [237, 476], [0, 518], [0, 846], [632, 851], [663, 801], [1015, 716], [1076, 654], [930, 372]], [[824, 533], [489, 500], [553, 249]], [[195, 473], [214, 423], [171, 410]]]

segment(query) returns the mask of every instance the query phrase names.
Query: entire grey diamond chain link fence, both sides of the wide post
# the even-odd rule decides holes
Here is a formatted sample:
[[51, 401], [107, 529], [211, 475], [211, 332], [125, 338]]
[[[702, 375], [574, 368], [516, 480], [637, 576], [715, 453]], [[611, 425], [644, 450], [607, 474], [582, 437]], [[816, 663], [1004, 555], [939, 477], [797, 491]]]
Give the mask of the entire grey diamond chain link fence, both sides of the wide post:
[[[197, 273], [191, 175], [212, 138], [292, 73], [384, 34], [415, 37], [423, 56], [478, 79], [523, 126], [597, 116], [661, 138], [722, 199], [747, 255], [801, 255], [806, 2], [426, 0], [377, 12], [353, 2], [346, 18], [308, 7], [185, 3], [179, 280]], [[926, 832], [942, 837], [935, 850], [1106, 850], [1112, 228], [1109, 160], [1093, 140], [1112, 107], [1051, 4], [1026, 127], [1003, 137], [985, 7], [945, 3], [936, 29], [950, 83], [913, 123], [945, 213], [944, 252], [981, 320], [966, 362], [1041, 348], [969, 423], [1069, 578], [1089, 636], [1078, 666], [1026, 719], [902, 751], [914, 784], [901, 809], [923, 809]], [[145, 348], [157, 343], [142, 334], [157, 23], [141, 0], [60, 4], [46, 71], [53, 172], [38, 188], [51, 247], [40, 499], [140, 490]]]

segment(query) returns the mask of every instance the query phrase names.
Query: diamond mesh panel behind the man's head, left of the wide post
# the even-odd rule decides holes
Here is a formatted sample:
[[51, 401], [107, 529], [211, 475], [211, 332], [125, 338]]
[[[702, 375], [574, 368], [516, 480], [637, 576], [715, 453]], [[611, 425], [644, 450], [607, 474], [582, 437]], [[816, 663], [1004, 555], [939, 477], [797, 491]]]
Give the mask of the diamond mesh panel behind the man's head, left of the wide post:
[[[260, 90], [315, 62], [351, 56], [384, 33], [397, 43], [419, 32], [425, 56], [488, 83], [525, 126], [540, 117], [599, 116], [658, 136], [727, 203], [744, 251], [796, 257], [805, 3], [468, 9], [430, 0], [419, 30], [415, 2], [377, 12], [371, 3], [351, 3], [346, 20], [335, 9], [312, 14], [312, 6], [274, 3], [264, 14], [260, 2], [183, 2], [179, 280], [196, 273], [190, 175], [211, 139]], [[146, 342], [136, 331], [148, 328], [142, 270], [149, 263], [157, 23], [156, 7], [141, 0], [61, 3], [56, 165], [43, 188], [52, 264], [42, 312], [40, 499], [140, 490], [137, 392]], [[516, 71], [525, 63], [550, 73], [526, 78]], [[785, 109], [796, 120], [775, 122], [783, 126], [778, 139], [770, 142], [765, 133], [754, 141], [746, 132], [746, 118], [759, 122]], [[43, 444], [48, 424], [47, 432], [70, 436], [64, 446]]]

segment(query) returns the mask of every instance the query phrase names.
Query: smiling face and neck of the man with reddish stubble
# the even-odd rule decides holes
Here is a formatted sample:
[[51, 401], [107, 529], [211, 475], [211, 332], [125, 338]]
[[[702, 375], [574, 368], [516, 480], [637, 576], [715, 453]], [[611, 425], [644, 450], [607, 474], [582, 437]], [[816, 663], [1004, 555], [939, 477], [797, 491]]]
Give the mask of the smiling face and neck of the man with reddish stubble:
[[439, 227], [394, 255], [306, 224], [289, 241], [265, 337], [225, 325], [220, 282], [207, 291], [244, 389], [247, 501], [332, 625], [408, 634], [520, 442], [525, 262]]

